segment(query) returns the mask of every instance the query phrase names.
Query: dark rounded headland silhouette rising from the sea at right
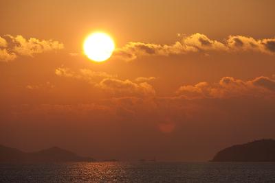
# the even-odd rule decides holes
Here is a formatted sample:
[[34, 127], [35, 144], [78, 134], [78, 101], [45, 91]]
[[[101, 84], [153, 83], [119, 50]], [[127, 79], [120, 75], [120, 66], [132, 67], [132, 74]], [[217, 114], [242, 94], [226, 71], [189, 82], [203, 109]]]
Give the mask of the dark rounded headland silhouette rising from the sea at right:
[[275, 141], [263, 139], [219, 151], [213, 162], [275, 162]]

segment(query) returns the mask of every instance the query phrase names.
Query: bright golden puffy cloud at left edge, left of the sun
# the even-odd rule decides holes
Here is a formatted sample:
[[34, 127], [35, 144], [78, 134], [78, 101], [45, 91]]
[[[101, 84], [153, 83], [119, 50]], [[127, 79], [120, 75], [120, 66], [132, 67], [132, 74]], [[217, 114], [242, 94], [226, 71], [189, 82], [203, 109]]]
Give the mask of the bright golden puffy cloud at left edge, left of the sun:
[[36, 53], [63, 49], [63, 43], [56, 40], [39, 40], [36, 38], [25, 39], [23, 36], [5, 35], [0, 37], [0, 61], [8, 62], [14, 60], [17, 56], [34, 56]]

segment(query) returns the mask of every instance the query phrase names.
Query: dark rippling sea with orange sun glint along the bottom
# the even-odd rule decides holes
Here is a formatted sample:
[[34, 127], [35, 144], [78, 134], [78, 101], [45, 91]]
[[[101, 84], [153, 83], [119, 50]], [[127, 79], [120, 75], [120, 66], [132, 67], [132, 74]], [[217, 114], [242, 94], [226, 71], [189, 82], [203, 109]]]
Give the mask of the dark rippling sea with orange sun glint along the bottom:
[[275, 182], [275, 163], [0, 164], [0, 182]]

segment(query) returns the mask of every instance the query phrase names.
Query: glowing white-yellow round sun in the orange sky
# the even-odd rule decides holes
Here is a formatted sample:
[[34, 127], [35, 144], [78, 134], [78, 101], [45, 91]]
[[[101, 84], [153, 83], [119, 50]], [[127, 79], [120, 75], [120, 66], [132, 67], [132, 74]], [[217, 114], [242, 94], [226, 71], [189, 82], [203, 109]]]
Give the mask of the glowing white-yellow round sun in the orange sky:
[[103, 32], [89, 35], [83, 44], [85, 55], [95, 62], [104, 62], [110, 58], [114, 49], [113, 39]]

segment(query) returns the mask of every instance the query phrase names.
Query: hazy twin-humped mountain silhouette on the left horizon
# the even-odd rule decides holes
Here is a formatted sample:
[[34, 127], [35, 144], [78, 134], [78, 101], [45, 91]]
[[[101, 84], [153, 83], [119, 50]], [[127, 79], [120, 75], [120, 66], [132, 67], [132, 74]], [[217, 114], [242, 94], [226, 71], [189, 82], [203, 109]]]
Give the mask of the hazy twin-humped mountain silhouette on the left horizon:
[[95, 161], [94, 158], [78, 156], [71, 151], [52, 147], [36, 152], [23, 152], [19, 149], [0, 145], [0, 162], [80, 162]]

